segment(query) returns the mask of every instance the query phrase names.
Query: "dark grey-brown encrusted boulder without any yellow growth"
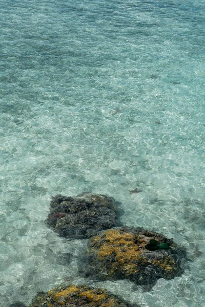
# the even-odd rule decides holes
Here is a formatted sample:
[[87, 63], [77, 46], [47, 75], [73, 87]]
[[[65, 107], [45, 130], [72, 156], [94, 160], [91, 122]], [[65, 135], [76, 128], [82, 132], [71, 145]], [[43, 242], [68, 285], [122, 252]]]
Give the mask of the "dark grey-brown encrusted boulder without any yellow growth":
[[46, 223], [60, 236], [89, 238], [100, 230], [119, 226], [116, 205], [117, 202], [106, 195], [56, 195], [52, 198]]

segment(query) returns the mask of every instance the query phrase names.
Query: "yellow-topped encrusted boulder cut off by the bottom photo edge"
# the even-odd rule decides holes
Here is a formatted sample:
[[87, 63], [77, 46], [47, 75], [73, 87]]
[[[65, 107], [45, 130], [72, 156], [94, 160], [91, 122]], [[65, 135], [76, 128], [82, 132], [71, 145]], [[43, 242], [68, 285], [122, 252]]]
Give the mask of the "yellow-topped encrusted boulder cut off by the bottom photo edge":
[[[111, 295], [106, 289], [83, 286], [58, 287], [35, 296], [29, 307], [131, 307], [130, 304]], [[138, 305], [132, 305], [137, 307]]]

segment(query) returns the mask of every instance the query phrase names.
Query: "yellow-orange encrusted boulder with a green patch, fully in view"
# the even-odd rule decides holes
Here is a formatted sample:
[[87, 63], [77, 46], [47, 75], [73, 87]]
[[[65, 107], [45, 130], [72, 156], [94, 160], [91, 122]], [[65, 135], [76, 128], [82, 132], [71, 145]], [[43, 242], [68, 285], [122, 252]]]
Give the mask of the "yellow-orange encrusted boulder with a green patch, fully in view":
[[142, 228], [116, 227], [89, 239], [86, 276], [130, 279], [153, 286], [158, 278], [182, 273], [185, 251], [160, 233]]

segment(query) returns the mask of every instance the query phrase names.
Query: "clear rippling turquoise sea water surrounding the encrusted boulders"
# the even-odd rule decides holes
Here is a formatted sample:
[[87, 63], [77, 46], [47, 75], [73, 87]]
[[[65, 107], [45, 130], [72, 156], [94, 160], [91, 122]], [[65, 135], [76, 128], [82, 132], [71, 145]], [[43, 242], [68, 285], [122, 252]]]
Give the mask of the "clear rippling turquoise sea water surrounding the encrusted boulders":
[[[204, 0], [0, 0], [1, 306], [65, 281], [144, 307], [205, 305], [204, 12]], [[150, 292], [81, 278], [86, 240], [44, 220], [51, 195], [83, 191], [185, 246], [185, 273]]]

